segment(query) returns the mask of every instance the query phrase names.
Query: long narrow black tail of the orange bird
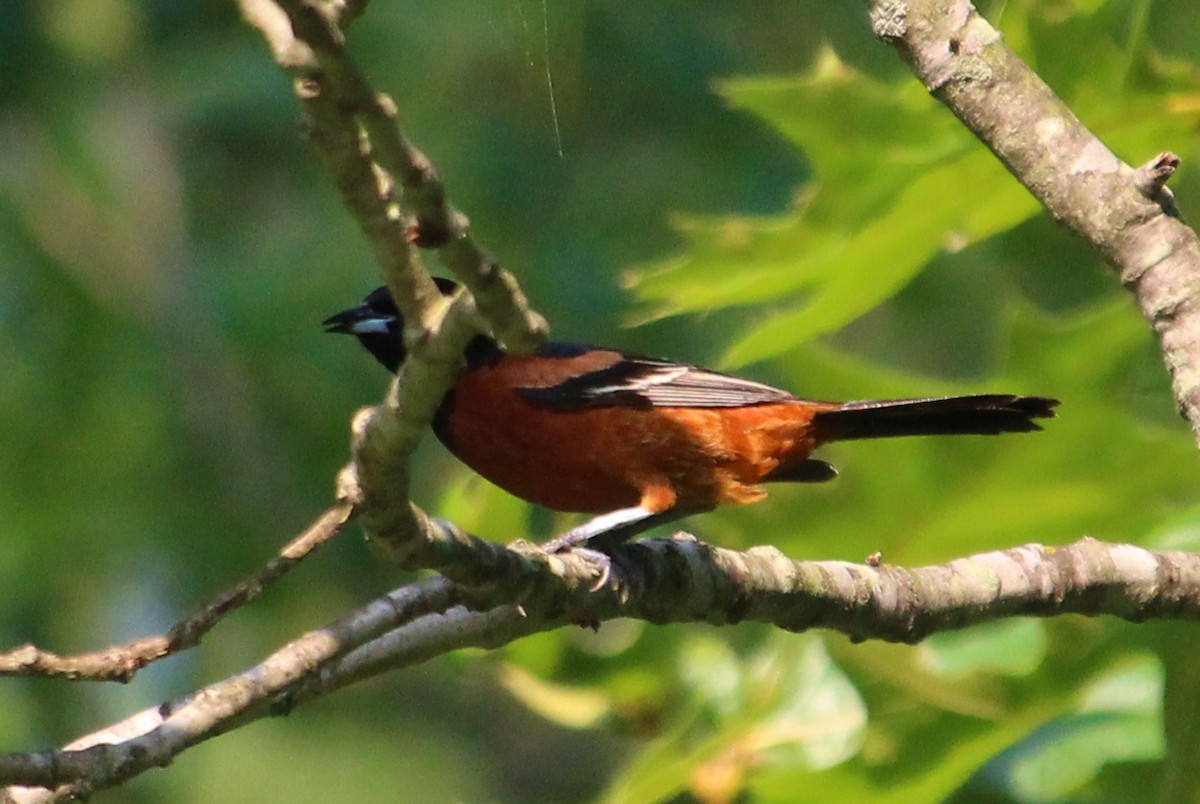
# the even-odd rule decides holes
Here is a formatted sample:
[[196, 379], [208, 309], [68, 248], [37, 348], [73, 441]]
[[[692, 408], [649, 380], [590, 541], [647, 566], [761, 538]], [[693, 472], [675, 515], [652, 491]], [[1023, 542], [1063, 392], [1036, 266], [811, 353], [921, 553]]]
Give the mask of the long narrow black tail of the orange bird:
[[1034, 419], [1054, 416], [1058, 400], [986, 394], [932, 400], [847, 402], [816, 414], [821, 442], [892, 436], [996, 436], [1042, 430]]

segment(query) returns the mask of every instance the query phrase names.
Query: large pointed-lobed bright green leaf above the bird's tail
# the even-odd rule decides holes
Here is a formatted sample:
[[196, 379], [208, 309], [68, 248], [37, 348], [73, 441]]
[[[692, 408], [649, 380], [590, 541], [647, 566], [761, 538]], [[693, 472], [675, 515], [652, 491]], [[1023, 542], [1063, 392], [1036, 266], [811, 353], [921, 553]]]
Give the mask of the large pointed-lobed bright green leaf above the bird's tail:
[[815, 185], [780, 216], [680, 217], [688, 256], [635, 271], [629, 283], [652, 305], [641, 318], [800, 298], [737, 342], [726, 365], [844, 326], [894, 295], [948, 242], [962, 247], [1037, 210], [912, 82], [876, 82], [827, 53], [810, 76], [728, 80], [720, 89], [804, 150]]

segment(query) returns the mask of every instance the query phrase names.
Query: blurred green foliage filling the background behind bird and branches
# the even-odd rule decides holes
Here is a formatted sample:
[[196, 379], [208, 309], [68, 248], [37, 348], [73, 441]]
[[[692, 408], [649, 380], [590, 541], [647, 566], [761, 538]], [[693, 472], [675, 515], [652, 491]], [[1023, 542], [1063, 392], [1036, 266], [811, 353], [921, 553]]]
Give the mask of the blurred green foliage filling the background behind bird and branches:
[[[1180, 154], [1195, 217], [1200, 6], [983, 11], [1121, 157]], [[1200, 545], [1194, 445], [1130, 299], [860, 6], [376, 2], [350, 46], [559, 338], [820, 398], [1063, 400], [1036, 437], [827, 450], [836, 482], [697, 517], [702, 538], [904, 564], [1082, 534]], [[234, 4], [11, 0], [0, 74], [0, 647], [83, 650], [162, 630], [328, 504], [347, 418], [385, 378], [318, 324], [377, 275]], [[481, 535], [570, 521], [434, 444], [418, 457], [418, 499]], [[0, 748], [221, 678], [403, 580], [343, 538], [128, 688], [0, 683]], [[1189, 628], [564, 630], [100, 798], [1180, 800], [1200, 778]]]

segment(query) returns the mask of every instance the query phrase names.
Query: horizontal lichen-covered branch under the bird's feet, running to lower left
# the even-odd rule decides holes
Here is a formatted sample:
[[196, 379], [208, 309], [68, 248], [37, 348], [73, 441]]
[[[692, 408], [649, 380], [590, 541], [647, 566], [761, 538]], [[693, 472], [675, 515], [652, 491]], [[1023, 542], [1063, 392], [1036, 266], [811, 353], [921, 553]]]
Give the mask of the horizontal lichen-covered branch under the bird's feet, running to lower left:
[[[758, 620], [792, 631], [824, 628], [856, 640], [917, 642], [1016, 614], [1200, 619], [1200, 556], [1093, 539], [1066, 547], [1025, 545], [913, 570], [797, 562], [772, 547], [739, 553], [690, 538], [653, 539], [625, 546], [600, 589], [590, 587], [593, 568], [577, 556], [530, 550], [506, 568], [476, 588], [432, 578], [398, 589], [246, 672], [64, 750], [0, 755], [0, 785], [26, 786], [8, 787], [18, 802], [86, 794], [362, 678], [572, 623]], [[488, 604], [498, 592], [514, 602]]]

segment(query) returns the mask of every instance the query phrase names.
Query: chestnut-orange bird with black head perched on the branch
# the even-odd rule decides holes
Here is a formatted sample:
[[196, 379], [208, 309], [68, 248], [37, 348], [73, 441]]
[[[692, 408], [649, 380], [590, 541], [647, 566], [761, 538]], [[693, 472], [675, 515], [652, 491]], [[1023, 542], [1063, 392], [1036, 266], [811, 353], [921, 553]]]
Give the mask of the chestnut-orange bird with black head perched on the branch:
[[[438, 278], [449, 295], [457, 286]], [[389, 371], [404, 360], [403, 322], [386, 288], [324, 322]], [[546, 343], [509, 356], [476, 336], [433, 431], [497, 486], [558, 511], [600, 514], [553, 548], [628, 539], [650, 527], [756, 503], [763, 482], [823, 482], [809, 455], [828, 442], [1042, 430], [1057, 400], [985, 394], [817, 402], [696, 366], [602, 347]]]

